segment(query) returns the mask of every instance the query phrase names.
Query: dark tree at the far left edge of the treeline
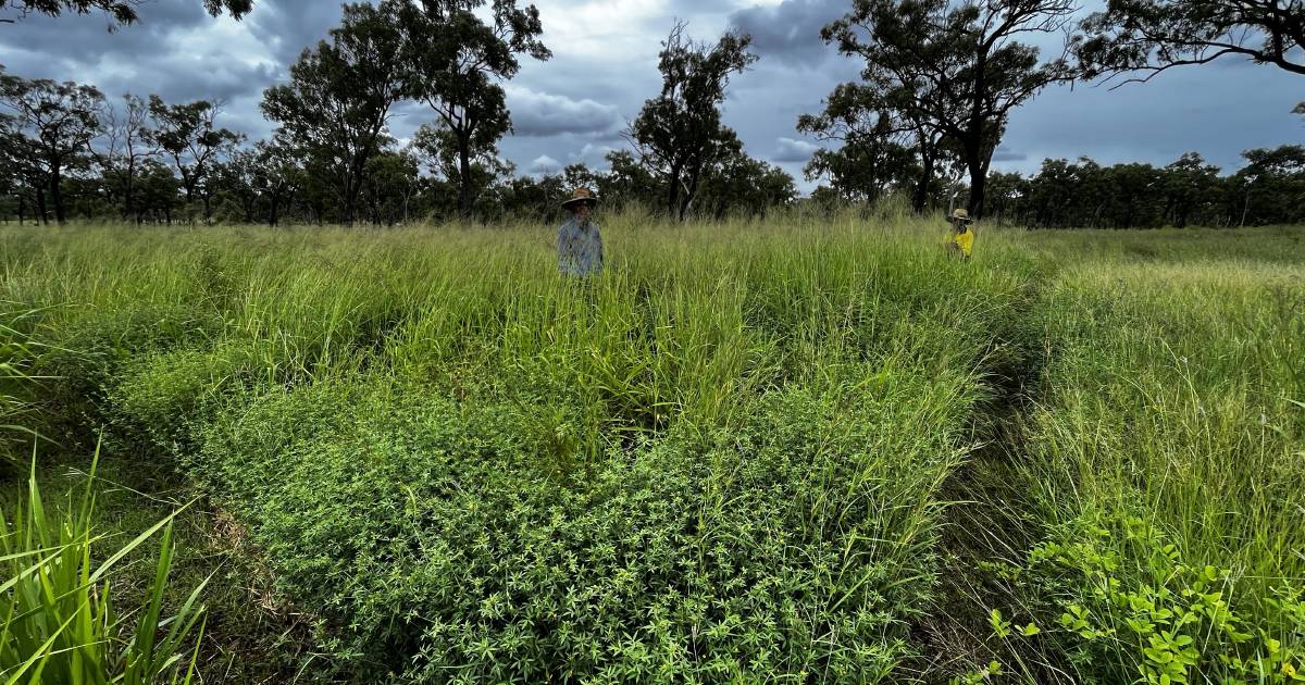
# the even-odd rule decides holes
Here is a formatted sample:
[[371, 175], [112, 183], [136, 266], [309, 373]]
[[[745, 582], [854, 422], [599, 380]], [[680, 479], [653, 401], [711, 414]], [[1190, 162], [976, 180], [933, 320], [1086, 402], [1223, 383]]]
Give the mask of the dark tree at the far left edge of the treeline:
[[0, 72], [0, 106], [17, 121], [22, 141], [16, 145], [27, 170], [40, 177], [38, 205], [44, 204], [42, 196], [48, 190], [55, 219], [65, 223], [63, 180], [70, 168], [86, 163], [86, 146], [100, 132], [104, 95], [70, 81], [27, 81]]

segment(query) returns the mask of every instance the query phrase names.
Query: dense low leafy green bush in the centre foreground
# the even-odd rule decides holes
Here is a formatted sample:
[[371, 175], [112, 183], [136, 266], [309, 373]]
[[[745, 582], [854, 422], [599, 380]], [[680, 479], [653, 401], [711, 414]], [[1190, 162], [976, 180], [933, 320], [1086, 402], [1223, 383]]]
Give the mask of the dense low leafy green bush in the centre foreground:
[[566, 461], [544, 408], [326, 382], [241, 402], [196, 471], [359, 681], [873, 681], [932, 595], [946, 390], [847, 368], [728, 434]]

